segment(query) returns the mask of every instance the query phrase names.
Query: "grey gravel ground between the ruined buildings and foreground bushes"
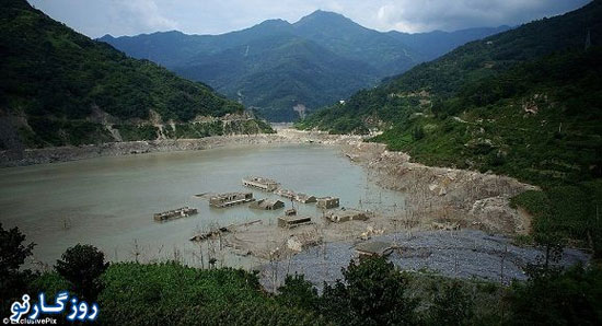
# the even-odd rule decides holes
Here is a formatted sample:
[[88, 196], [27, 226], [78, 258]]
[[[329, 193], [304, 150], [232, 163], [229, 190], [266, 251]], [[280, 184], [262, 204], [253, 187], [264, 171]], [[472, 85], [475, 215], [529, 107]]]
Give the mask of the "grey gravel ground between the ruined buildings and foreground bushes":
[[[375, 236], [372, 241], [396, 241], [402, 249], [389, 256], [389, 260], [404, 270], [426, 269], [449, 277], [505, 283], [512, 279], [526, 279], [523, 268], [543, 258], [543, 253], [537, 248], [518, 247], [511, 244], [510, 238], [472, 230], [424, 231], [412, 234], [412, 237], [407, 233], [397, 233]], [[305, 279], [322, 288], [324, 281], [334, 282], [343, 278], [341, 268], [347, 267], [355, 257], [354, 244], [348, 242], [311, 247], [290, 259], [264, 265], [262, 283], [273, 290], [274, 275], [278, 270], [277, 282], [282, 281], [287, 273], [297, 272], [305, 275]], [[570, 266], [588, 259], [589, 255], [567, 248], [558, 264]]]

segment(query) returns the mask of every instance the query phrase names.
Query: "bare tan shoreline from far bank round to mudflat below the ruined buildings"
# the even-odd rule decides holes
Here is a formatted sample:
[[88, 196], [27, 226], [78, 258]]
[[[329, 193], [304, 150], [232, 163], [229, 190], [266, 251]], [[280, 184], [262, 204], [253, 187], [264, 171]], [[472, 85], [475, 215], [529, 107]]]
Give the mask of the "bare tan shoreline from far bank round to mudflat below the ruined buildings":
[[[335, 259], [338, 269], [348, 264], [354, 255], [352, 246], [355, 244], [375, 240], [391, 241], [391, 236], [394, 234], [404, 235], [407, 240], [422, 238], [424, 241], [430, 238], [431, 235], [440, 237], [441, 234], [472, 234], [468, 236], [470, 242], [474, 249], [478, 252], [482, 247], [488, 245], [487, 234], [498, 234], [502, 236], [500, 238], [503, 238], [506, 244], [511, 244], [513, 236], [530, 232], [531, 217], [520, 209], [511, 208], [509, 199], [522, 191], [536, 189], [536, 187], [506, 176], [413, 163], [407, 154], [390, 152], [385, 145], [364, 142], [359, 136], [336, 136], [326, 132], [282, 128], [278, 129], [275, 135], [48, 148], [25, 150], [21, 153], [0, 152], [0, 166], [22, 166], [153, 152], [196, 151], [228, 145], [287, 143], [337, 145], [340, 148], [343, 155], [366, 168], [371, 181], [385, 189], [403, 193], [405, 202], [395, 208], [381, 207], [378, 211], [373, 211], [374, 218], [368, 221], [352, 221], [340, 224], [326, 223], [325, 225], [310, 225], [293, 230], [282, 230], [271, 223], [270, 225], [259, 223], [238, 228], [233, 232], [224, 234], [223, 238], [220, 236], [220, 244], [223, 241], [223, 249], [230, 254], [251, 255], [266, 264], [261, 268], [264, 281], [266, 275], [274, 275], [271, 269], [274, 261], [287, 261], [287, 271], [290, 271], [288, 265], [289, 261], [292, 261], [292, 266], [290, 266], [292, 270], [312, 273], [312, 271], [303, 270], [303, 267], [301, 267], [301, 270], [298, 270], [299, 268], [296, 270], [293, 267], [294, 261], [298, 261], [300, 266], [311, 268], [310, 266], [315, 264], [325, 263], [324, 257], [316, 255], [316, 252], [340, 252], [340, 259]], [[321, 217], [315, 218], [320, 219]], [[482, 233], [470, 233], [473, 231]], [[209, 242], [215, 241], [217, 240], [209, 240]], [[412, 244], [407, 243], [405, 246], [409, 248]], [[455, 246], [455, 241], [447, 244], [449, 254], [445, 254], [442, 258], [429, 258], [430, 255], [428, 257], [415, 257], [413, 265], [404, 266], [404, 268], [424, 267], [445, 273], [444, 270], [449, 269], [449, 264], [441, 265], [441, 259], [448, 261], [450, 255], [456, 257], [466, 252], [466, 248], [461, 245]], [[435, 253], [440, 252], [441, 248], [436, 246], [429, 248], [429, 251]], [[513, 271], [510, 278], [521, 279], [523, 265], [533, 263], [540, 254], [536, 248], [525, 251], [528, 254], [521, 259], [520, 264], [511, 267]], [[493, 256], [499, 256], [498, 252], [495, 252]], [[433, 255], [432, 257], [438, 256]], [[487, 260], [488, 263], [485, 264], [487, 266], [483, 268], [488, 271], [485, 272], [481, 269], [481, 271], [476, 269], [475, 271], [472, 270], [474, 269], [472, 267], [472, 269], [464, 270], [466, 266], [472, 266], [468, 260], [473, 258]], [[462, 264], [463, 266], [460, 267], [462, 270], [450, 276], [496, 278], [495, 272], [489, 269], [497, 269], [500, 264], [497, 259], [490, 257], [487, 259], [484, 257], [466, 257], [464, 261], [467, 263]], [[476, 261], [476, 264], [483, 261]], [[316, 277], [312, 278], [312, 281], [317, 283], [332, 280], [331, 277], [322, 276], [322, 272], [316, 271], [313, 275]]]

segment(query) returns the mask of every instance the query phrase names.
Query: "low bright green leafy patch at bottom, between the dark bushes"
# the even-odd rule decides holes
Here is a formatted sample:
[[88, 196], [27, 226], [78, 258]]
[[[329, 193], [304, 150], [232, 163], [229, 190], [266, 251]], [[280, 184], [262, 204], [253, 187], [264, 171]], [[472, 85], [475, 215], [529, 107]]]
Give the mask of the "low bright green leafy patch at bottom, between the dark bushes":
[[256, 275], [238, 269], [125, 263], [112, 265], [102, 280], [102, 324], [324, 324], [299, 307], [278, 304], [264, 293]]

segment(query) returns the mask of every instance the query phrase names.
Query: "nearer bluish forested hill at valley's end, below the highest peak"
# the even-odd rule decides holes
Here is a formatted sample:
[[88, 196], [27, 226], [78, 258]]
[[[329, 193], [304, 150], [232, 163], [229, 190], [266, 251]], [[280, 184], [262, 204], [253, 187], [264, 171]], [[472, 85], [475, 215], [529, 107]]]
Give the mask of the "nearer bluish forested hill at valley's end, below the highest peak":
[[187, 66], [173, 70], [182, 77], [206, 81], [245, 105], [262, 108], [266, 117], [276, 121], [294, 120], [299, 116], [293, 110], [296, 106], [320, 107], [378, 82], [371, 66], [292, 34], [198, 55]]

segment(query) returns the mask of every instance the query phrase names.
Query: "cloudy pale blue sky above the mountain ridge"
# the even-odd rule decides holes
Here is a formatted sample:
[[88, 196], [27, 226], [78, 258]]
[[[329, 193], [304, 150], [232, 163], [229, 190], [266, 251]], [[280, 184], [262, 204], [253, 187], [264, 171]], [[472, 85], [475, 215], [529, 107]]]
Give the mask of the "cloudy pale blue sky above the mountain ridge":
[[321, 9], [369, 28], [408, 33], [520, 25], [590, 0], [28, 0], [90, 37], [177, 30], [222, 34], [268, 19], [291, 23]]

